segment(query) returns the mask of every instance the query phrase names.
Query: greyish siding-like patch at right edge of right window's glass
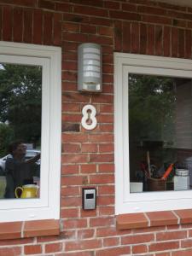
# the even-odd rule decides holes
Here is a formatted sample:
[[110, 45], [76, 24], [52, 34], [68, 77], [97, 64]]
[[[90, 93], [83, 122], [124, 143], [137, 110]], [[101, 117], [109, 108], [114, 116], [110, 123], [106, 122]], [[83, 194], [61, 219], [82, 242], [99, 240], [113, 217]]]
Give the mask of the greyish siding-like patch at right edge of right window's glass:
[[177, 86], [176, 148], [192, 148], [191, 82]]

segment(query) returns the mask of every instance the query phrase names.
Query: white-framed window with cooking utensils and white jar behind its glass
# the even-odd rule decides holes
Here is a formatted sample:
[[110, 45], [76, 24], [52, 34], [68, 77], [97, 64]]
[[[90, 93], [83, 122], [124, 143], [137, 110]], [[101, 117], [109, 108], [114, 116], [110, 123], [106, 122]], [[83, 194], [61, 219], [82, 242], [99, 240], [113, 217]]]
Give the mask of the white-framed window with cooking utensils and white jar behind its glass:
[[116, 213], [191, 208], [192, 61], [114, 60]]

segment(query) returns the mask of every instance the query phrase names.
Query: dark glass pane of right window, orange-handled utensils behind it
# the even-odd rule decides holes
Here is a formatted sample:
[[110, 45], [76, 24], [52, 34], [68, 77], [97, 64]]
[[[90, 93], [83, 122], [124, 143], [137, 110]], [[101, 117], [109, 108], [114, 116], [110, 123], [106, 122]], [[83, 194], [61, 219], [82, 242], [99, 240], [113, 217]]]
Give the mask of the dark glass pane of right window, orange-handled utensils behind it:
[[129, 74], [131, 192], [192, 186], [191, 79]]

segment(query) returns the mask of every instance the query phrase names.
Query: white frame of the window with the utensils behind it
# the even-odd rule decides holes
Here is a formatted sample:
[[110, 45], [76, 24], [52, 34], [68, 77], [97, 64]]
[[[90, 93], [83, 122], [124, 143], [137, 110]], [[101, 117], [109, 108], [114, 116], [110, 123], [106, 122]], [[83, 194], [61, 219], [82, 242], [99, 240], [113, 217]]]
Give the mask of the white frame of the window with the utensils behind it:
[[192, 190], [130, 193], [129, 73], [192, 79], [192, 61], [149, 55], [114, 53], [115, 213], [192, 208]]

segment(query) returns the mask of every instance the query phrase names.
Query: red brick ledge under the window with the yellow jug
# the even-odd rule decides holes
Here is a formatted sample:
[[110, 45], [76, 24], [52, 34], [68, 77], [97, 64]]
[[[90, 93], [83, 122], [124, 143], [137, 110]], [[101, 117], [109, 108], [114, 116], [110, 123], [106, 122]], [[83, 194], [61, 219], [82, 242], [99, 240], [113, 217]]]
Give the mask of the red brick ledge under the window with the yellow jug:
[[60, 224], [57, 219], [0, 223], [0, 240], [59, 234]]

